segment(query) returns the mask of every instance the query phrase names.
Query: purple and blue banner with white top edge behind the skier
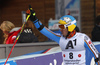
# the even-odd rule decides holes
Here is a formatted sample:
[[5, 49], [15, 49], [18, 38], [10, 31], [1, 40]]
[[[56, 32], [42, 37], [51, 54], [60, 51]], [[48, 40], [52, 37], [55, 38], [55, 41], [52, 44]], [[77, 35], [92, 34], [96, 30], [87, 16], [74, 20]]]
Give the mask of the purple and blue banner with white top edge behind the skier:
[[[100, 44], [95, 45], [95, 47], [100, 52]], [[6, 65], [63, 65], [61, 51], [55, 52], [55, 53], [39, 54], [38, 56], [34, 56], [34, 55], [37, 55], [37, 54], [33, 54], [33, 56], [26, 54], [26, 55], [23, 55], [22, 57], [20, 56], [21, 58], [17, 57], [17, 59], [10, 58], [10, 60], [8, 60]], [[86, 56], [89, 57], [89, 58], [86, 58], [86, 60], [88, 60], [88, 62], [86, 62], [86, 65], [91, 65], [91, 62], [93, 64], [94, 62], [94, 60], [92, 60], [93, 55], [90, 53], [88, 49], [86, 49]], [[0, 60], [0, 65], [4, 65], [4, 63], [5, 61], [1, 62]]]

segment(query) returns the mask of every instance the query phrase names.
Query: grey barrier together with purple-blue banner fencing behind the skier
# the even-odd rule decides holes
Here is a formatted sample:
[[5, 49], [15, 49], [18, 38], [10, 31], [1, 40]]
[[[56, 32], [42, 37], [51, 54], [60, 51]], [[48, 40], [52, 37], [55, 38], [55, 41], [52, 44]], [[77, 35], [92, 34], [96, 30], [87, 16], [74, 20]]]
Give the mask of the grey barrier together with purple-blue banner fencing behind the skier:
[[[100, 42], [93, 43], [100, 52]], [[12, 45], [4, 45], [4, 47], [1, 46], [0, 48], [3, 49], [0, 49], [0, 53], [1, 50], [2, 52], [7, 50], [6, 53], [4, 53], [5, 57], [7, 57]], [[44, 50], [46, 50], [46, 52]], [[87, 49], [86, 56], [88, 56], [86, 65], [95, 65], [94, 57]], [[1, 54], [0, 57], [2, 57]], [[61, 49], [56, 42], [16, 44], [11, 57], [6, 65], [63, 65]], [[6, 59], [0, 59], [0, 65], [4, 65], [5, 60]]]

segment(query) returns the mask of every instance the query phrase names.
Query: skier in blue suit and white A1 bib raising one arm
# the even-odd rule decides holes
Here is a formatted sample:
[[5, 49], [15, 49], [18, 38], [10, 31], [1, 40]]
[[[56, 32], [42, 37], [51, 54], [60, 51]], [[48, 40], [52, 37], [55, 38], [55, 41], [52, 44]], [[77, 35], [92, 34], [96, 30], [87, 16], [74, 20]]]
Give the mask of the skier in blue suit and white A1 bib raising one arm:
[[76, 20], [74, 17], [70, 15], [61, 17], [59, 28], [61, 28], [62, 34], [55, 34], [39, 22], [32, 8], [29, 8], [26, 13], [30, 15], [30, 20], [42, 34], [59, 44], [64, 65], [86, 65], [88, 62], [86, 61], [88, 58], [86, 57], [86, 48], [94, 55], [95, 62], [99, 65], [99, 52], [86, 34], [75, 31]]

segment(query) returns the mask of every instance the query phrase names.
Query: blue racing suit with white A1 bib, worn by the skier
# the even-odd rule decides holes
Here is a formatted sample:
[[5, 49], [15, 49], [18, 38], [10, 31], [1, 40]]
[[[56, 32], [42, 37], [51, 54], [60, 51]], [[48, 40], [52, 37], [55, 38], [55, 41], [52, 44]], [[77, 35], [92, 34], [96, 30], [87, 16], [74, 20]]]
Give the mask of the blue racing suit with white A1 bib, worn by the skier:
[[[86, 34], [76, 32], [73, 37], [66, 39], [62, 34], [50, 31], [39, 20], [35, 20], [33, 23], [43, 35], [59, 44], [64, 65], [86, 65], [86, 61], [88, 61], [86, 60], [88, 58], [86, 57], [86, 48], [95, 58], [99, 57], [99, 52]], [[99, 65], [99, 62], [96, 64]]]

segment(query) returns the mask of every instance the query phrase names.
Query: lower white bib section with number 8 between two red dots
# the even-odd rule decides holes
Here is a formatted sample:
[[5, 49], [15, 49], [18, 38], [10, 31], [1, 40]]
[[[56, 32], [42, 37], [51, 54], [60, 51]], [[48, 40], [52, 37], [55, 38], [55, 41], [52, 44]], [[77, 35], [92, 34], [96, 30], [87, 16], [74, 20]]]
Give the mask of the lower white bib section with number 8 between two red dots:
[[77, 52], [62, 52], [63, 62], [65, 65], [68, 64], [81, 64], [85, 62], [85, 51], [77, 51]]

